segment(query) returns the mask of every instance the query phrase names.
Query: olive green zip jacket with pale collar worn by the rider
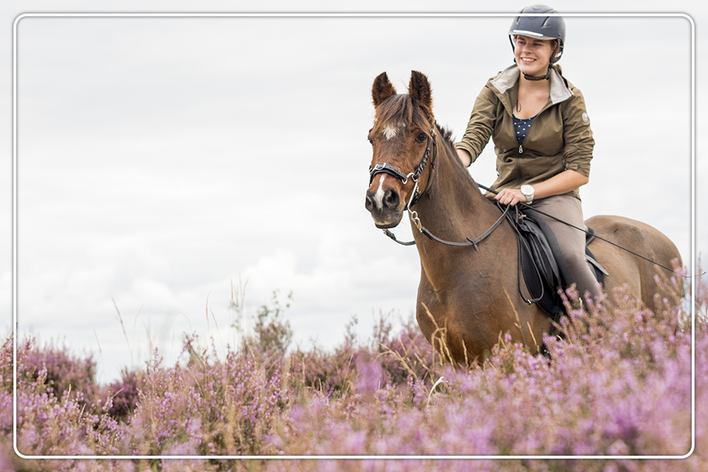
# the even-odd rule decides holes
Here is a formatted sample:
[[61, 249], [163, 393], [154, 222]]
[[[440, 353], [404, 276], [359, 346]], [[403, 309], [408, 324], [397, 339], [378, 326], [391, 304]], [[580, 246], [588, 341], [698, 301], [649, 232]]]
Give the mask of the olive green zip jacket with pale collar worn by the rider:
[[[516, 140], [512, 111], [519, 91], [516, 65], [489, 79], [474, 102], [462, 140], [455, 144], [474, 162], [491, 137], [498, 178], [493, 190], [533, 185], [571, 169], [586, 177], [593, 159], [593, 132], [583, 94], [556, 69], [551, 74], [548, 103], [536, 116], [521, 146]], [[580, 198], [578, 190], [569, 192]]]

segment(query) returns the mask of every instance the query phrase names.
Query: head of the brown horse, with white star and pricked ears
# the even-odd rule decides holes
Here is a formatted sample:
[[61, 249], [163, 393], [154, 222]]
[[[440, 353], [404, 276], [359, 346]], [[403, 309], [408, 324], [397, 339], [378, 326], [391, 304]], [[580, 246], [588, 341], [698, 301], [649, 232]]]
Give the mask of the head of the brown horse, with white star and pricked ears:
[[393, 228], [416, 190], [428, 187], [430, 171], [423, 170], [435, 144], [430, 82], [412, 71], [409, 93], [398, 95], [384, 72], [374, 80], [372, 98], [376, 111], [369, 131], [373, 157], [365, 206], [378, 228]]

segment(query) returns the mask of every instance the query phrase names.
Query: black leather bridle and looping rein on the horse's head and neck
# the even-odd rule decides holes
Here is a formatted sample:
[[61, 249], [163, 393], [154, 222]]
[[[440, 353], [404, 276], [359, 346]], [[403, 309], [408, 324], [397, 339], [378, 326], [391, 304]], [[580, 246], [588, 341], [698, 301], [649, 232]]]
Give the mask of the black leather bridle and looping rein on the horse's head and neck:
[[[432, 154], [431, 154], [432, 151]], [[479, 251], [479, 247], [477, 245], [487, 236], [492, 234], [492, 232], [497, 229], [497, 227], [506, 219], [508, 213], [509, 213], [509, 205], [506, 206], [505, 209], [503, 209], [503, 212], [501, 214], [501, 217], [499, 217], [498, 220], [486, 231], [484, 231], [483, 234], [481, 234], [479, 237], [471, 239], [471, 238], [466, 238], [467, 241], [464, 241], [462, 243], [457, 243], [453, 241], [445, 241], [444, 239], [438, 238], [438, 236], [435, 236], [432, 234], [423, 224], [421, 224], [421, 219], [418, 217], [418, 212], [415, 210], [412, 210], [411, 207], [413, 205], [416, 205], [418, 201], [421, 200], [421, 197], [426, 194], [428, 191], [428, 188], [430, 188], [430, 183], [433, 181], [433, 171], [435, 170], [435, 161], [438, 158], [438, 140], [435, 137], [435, 127], [430, 129], [430, 135], [428, 136], [428, 143], [426, 144], [426, 151], [423, 154], [423, 159], [421, 160], [421, 163], [418, 164], [418, 167], [416, 167], [416, 170], [409, 173], [405, 174], [399, 171], [395, 166], [392, 166], [389, 163], [382, 162], [382, 163], [377, 163], [374, 168], [369, 168], [369, 185], [374, 181], [374, 176], [379, 174], [379, 173], [387, 173], [389, 175], [394, 176], [395, 178], [398, 178], [401, 180], [404, 185], [408, 183], [408, 179], [412, 178], [413, 183], [415, 183], [415, 186], [413, 187], [413, 192], [411, 192], [411, 198], [409, 202], [406, 204], [406, 210], [409, 212], [409, 216], [411, 217], [411, 221], [416, 225], [416, 228], [418, 228], [418, 231], [421, 231], [422, 234], [428, 236], [428, 238], [432, 239], [433, 241], [437, 241], [438, 243], [446, 244], [447, 246], [459, 246], [459, 247], [464, 247], [464, 246], [473, 246], [475, 251]], [[426, 184], [426, 188], [423, 190], [423, 192], [418, 191], [418, 179], [421, 177], [421, 174], [423, 171], [426, 170], [426, 166], [428, 166], [428, 159], [430, 159], [430, 177], [428, 178], [428, 183]], [[498, 205], [498, 204], [497, 204]], [[501, 209], [501, 205], [498, 205]], [[388, 229], [382, 229], [384, 231], [384, 234], [388, 236], [389, 238], [392, 238], [396, 243], [401, 244], [402, 246], [413, 246], [416, 241], [399, 241], [399, 239], [396, 238], [396, 235], [394, 235], [391, 231]]]

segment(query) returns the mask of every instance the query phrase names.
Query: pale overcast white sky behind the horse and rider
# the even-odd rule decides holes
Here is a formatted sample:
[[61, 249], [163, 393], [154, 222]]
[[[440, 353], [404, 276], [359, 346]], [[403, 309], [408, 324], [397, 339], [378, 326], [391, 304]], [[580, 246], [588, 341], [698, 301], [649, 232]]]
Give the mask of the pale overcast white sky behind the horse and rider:
[[[478, 10], [451, 1], [443, 12], [513, 13], [523, 6], [500, 1]], [[626, 15], [687, 13], [700, 32], [708, 7], [552, 6], [567, 13], [560, 64], [583, 91], [595, 133], [590, 183], [581, 190], [586, 217], [649, 223], [690, 264], [708, 250], [700, 205], [705, 139], [699, 131], [692, 174], [691, 134], [693, 105], [699, 130], [704, 116], [704, 40], [696, 33], [692, 100], [691, 22]], [[387, 71], [405, 92], [411, 70], [422, 71], [433, 86], [436, 120], [460, 137], [486, 80], [513, 61], [510, 16], [215, 13], [25, 16], [13, 68], [12, 25], [21, 13], [101, 10], [85, 1], [10, 1], [1, 8], [0, 139], [7, 152], [0, 179], [8, 186], [0, 208], [0, 315], [11, 333], [16, 296], [18, 337], [93, 353], [102, 382], [122, 367], [142, 366], [156, 347], [166, 364], [175, 362], [184, 333], [225, 352], [238, 340], [229, 326], [241, 317], [247, 327], [274, 294], [290, 304], [285, 320], [304, 348], [341, 343], [354, 318], [362, 341], [379, 316], [409, 318], [418, 254], [386, 238], [364, 208], [372, 81]], [[173, 8], [141, 1], [105, 11], [353, 11], [321, 2], [265, 2], [254, 10], [183, 1]], [[429, 8], [365, 1], [356, 11]], [[624, 16], [572, 15], [578, 12]], [[469, 168], [472, 177], [491, 184], [494, 160], [490, 144]], [[411, 234], [406, 221], [394, 232]]]

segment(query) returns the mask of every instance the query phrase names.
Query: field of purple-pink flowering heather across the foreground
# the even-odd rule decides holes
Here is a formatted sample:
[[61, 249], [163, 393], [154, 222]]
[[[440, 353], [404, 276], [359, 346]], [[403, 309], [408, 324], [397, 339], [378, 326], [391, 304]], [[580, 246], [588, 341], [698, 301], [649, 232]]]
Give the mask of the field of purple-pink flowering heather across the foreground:
[[[13, 451], [13, 338], [0, 364], [0, 471], [708, 471], [708, 291], [695, 284], [692, 333], [675, 281], [655, 306], [622, 292], [585, 313], [569, 296], [566, 338], [550, 357], [501, 336], [474, 367], [433, 351], [414, 321], [383, 316], [370, 340], [291, 346], [287, 313], [263, 307], [255, 335], [217, 355], [208, 333], [183, 355], [155, 353], [120, 381], [96, 361], [17, 340], [18, 450]], [[690, 297], [685, 298], [685, 300]], [[683, 305], [683, 309], [681, 306]], [[168, 456], [208, 455], [209, 459]], [[220, 459], [219, 456], [428, 456], [411, 459]], [[430, 456], [618, 456], [444, 459]]]

